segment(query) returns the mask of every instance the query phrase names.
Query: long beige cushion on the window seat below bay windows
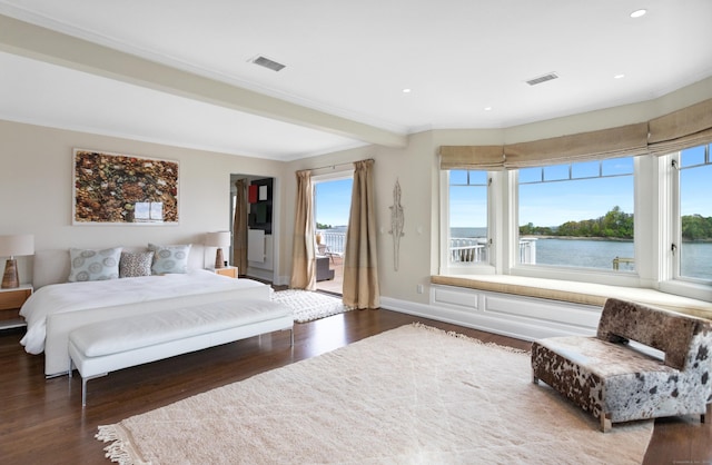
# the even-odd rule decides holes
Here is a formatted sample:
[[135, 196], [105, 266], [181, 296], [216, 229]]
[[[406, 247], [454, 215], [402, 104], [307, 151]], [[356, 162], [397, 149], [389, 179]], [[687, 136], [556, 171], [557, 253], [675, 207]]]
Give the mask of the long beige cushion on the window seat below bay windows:
[[609, 297], [712, 319], [712, 303], [655, 289], [510, 275], [434, 275], [431, 284], [603, 307]]

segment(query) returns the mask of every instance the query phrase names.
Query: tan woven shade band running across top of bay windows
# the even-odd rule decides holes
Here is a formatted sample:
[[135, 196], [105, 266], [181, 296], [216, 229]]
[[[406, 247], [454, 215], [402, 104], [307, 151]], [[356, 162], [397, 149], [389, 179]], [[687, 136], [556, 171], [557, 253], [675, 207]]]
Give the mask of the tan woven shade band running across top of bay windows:
[[517, 169], [645, 154], [712, 142], [712, 99], [650, 121], [498, 146], [442, 146], [441, 169]]

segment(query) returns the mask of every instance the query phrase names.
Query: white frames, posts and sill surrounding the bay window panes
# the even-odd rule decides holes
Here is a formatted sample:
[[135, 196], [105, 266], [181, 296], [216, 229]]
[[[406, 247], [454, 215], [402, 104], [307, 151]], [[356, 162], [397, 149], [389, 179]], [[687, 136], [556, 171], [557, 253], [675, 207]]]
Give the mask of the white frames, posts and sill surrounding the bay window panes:
[[[712, 150], [712, 149], [711, 149]], [[441, 240], [439, 274], [442, 275], [510, 275], [580, 281], [633, 288], [651, 288], [683, 297], [709, 300], [712, 285], [675, 273], [675, 257], [670, 246], [680, 244], [680, 205], [678, 170], [672, 160], [680, 152], [633, 157], [635, 271], [616, 273], [594, 268], [522, 266], [518, 254], [518, 170], [487, 171], [492, 182], [487, 191], [487, 234], [490, 263], [453, 267], [448, 263], [449, 244], [449, 171], [441, 170]]]

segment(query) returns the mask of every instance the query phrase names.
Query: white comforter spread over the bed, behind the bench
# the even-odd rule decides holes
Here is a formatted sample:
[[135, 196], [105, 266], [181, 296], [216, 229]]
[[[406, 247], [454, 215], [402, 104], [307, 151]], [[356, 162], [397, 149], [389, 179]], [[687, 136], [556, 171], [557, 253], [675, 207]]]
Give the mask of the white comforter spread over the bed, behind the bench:
[[30, 354], [44, 350], [48, 315], [265, 286], [251, 279], [235, 279], [202, 269], [187, 274], [49, 285], [32, 294], [20, 310], [28, 325], [20, 344]]

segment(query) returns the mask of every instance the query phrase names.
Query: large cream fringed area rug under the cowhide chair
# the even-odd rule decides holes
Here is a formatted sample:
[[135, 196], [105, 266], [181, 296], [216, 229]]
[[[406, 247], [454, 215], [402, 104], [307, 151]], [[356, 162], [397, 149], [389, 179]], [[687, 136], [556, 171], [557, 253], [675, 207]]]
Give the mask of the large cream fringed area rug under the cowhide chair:
[[640, 464], [653, 422], [610, 433], [531, 382], [526, 353], [408, 325], [115, 425], [121, 464]]

